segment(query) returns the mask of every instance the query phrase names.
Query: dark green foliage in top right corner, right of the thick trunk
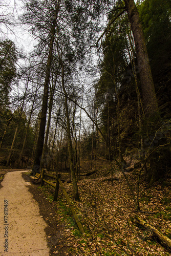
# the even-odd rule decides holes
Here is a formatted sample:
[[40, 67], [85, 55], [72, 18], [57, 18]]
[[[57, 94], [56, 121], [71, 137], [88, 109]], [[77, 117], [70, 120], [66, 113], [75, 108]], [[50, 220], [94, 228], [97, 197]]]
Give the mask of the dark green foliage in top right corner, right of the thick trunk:
[[139, 5], [161, 116], [170, 119], [171, 3], [145, 0]]

